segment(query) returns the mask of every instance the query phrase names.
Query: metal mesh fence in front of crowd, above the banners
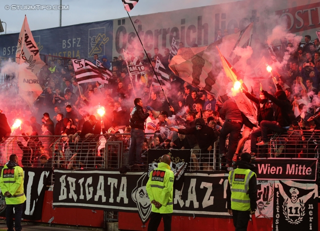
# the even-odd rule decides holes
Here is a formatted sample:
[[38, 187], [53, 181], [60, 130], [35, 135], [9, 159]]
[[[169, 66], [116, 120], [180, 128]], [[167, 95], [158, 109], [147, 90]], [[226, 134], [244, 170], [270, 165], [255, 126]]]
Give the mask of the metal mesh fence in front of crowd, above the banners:
[[[276, 133], [270, 136], [268, 145], [258, 146], [257, 157], [318, 158], [319, 142], [320, 130], [289, 130], [282, 134]], [[129, 168], [129, 144], [129, 133], [101, 134], [83, 138], [77, 135], [8, 136], [0, 143], [0, 164], [3, 165], [9, 155], [14, 153], [18, 155], [20, 165], [29, 167]], [[212, 150], [205, 153], [200, 149], [190, 149], [188, 170], [225, 170], [225, 158], [219, 158], [218, 145], [216, 141]], [[147, 168], [147, 153], [152, 146], [155, 146], [154, 139], [145, 139], [141, 153], [144, 165], [134, 165], [130, 170]], [[157, 148], [163, 147], [160, 145]]]

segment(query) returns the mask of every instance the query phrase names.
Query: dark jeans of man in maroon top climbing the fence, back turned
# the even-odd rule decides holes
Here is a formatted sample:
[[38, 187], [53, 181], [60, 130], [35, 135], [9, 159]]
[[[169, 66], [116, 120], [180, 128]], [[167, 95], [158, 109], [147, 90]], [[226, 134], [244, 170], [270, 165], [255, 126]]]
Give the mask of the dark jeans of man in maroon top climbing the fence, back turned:
[[232, 163], [232, 157], [238, 143], [242, 124], [239, 122], [225, 121], [219, 137], [219, 152], [225, 153], [225, 138], [229, 134], [229, 148], [226, 163]]

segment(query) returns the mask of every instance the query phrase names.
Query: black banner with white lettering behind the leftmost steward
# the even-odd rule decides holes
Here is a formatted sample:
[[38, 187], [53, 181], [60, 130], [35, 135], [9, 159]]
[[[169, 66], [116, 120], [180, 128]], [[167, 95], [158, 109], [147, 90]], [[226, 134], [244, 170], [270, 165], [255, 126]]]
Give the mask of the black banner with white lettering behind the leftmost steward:
[[[41, 219], [44, 191], [47, 189], [46, 185], [50, 185], [52, 169], [23, 167], [23, 171], [26, 200], [23, 204], [22, 218], [39, 220]], [[0, 216], [5, 216], [5, 207], [5, 197], [1, 192]]]

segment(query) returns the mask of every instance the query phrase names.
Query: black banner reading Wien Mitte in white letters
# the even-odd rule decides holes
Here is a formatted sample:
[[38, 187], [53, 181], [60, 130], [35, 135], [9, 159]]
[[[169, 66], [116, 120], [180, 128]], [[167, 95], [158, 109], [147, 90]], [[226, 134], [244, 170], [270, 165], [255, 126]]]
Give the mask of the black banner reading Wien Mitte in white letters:
[[252, 160], [257, 168], [257, 179], [315, 181], [315, 158], [268, 158]]

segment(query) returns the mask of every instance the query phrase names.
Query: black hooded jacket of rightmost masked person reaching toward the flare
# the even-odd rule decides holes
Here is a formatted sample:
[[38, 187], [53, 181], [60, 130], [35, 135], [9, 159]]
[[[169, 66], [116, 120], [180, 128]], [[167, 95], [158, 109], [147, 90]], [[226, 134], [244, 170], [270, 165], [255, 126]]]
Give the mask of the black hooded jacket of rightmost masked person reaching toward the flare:
[[276, 97], [266, 91], [263, 91], [263, 94], [277, 106], [274, 113], [275, 121], [282, 127], [289, 126], [291, 124], [293, 111], [285, 92], [283, 90], [277, 90], [275, 92]]

